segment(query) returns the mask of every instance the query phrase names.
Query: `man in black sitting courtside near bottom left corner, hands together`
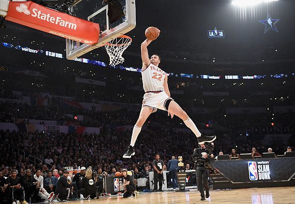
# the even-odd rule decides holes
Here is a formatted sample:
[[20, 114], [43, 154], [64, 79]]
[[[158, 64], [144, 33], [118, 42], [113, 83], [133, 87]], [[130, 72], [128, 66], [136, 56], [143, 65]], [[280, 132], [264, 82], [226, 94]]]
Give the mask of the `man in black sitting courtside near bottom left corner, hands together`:
[[[10, 203], [24, 200], [24, 189], [20, 185], [20, 179], [16, 176], [16, 170], [12, 170], [10, 176], [5, 180], [6, 197]], [[13, 191], [13, 193], [12, 193]]]

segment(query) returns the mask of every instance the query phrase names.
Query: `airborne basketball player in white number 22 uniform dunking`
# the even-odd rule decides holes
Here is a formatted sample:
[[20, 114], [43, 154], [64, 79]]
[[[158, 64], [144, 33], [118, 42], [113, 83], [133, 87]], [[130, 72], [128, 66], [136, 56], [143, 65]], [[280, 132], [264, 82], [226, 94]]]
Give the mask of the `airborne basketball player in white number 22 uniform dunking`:
[[[160, 34], [160, 30], [157, 29]], [[148, 45], [151, 40], [146, 39], [141, 45], [141, 53], [143, 60], [142, 78], [145, 90], [142, 110], [139, 118], [133, 128], [130, 145], [123, 155], [123, 158], [131, 158], [135, 154], [134, 144], [141, 129], [148, 119], [148, 116], [156, 112], [157, 109], [161, 109], [168, 112], [173, 118], [174, 115], [183, 120], [184, 124], [192, 130], [197, 136], [198, 142], [203, 144], [205, 142], [212, 142], [216, 139], [216, 136], [201, 136], [201, 133], [197, 129], [194, 122], [189, 118], [185, 111], [170, 97], [170, 91], [168, 88], [167, 73], [158, 68], [161, 58], [160, 56], [153, 54], [151, 58], [148, 58]]]

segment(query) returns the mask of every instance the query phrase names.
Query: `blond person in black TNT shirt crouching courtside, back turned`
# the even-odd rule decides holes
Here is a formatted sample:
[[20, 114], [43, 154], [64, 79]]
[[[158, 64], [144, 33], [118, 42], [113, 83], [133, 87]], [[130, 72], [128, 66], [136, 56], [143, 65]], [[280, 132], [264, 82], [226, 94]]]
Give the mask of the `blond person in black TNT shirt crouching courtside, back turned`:
[[92, 170], [88, 168], [85, 177], [82, 179], [82, 188], [79, 190], [79, 193], [83, 195], [84, 200], [96, 197], [96, 182], [97, 178], [94, 179], [92, 177]]

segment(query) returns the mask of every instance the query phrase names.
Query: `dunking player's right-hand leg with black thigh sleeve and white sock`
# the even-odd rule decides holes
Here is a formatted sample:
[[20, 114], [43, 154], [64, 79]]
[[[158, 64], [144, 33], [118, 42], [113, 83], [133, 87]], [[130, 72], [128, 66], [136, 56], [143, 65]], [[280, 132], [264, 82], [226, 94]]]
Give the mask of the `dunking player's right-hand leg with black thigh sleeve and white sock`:
[[183, 120], [184, 124], [193, 131], [197, 136], [199, 144], [204, 144], [205, 142], [212, 142], [216, 139], [216, 136], [201, 136], [200, 131], [196, 127], [195, 123], [189, 118], [187, 113], [182, 110], [182, 108], [172, 99], [168, 99], [165, 103], [165, 109], [168, 110], [170, 114], [178, 116]]

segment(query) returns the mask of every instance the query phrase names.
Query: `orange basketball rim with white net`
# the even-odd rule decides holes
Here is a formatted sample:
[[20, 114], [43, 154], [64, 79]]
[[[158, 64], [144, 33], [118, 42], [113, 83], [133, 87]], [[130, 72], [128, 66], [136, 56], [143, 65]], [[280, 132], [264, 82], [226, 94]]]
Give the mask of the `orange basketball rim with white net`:
[[124, 58], [122, 57], [123, 52], [131, 44], [132, 38], [127, 35], [121, 35], [104, 45], [109, 57], [110, 66], [122, 64]]

